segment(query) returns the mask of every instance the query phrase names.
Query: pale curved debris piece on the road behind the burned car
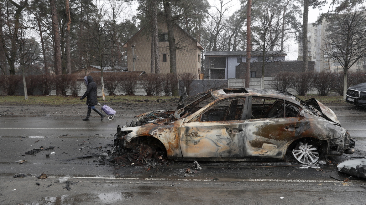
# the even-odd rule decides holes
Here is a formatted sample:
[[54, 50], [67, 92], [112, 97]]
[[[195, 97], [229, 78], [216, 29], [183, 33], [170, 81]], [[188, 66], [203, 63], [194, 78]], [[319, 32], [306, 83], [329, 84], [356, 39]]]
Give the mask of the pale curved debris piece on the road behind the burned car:
[[366, 178], [366, 159], [351, 159], [338, 164], [338, 171]]

